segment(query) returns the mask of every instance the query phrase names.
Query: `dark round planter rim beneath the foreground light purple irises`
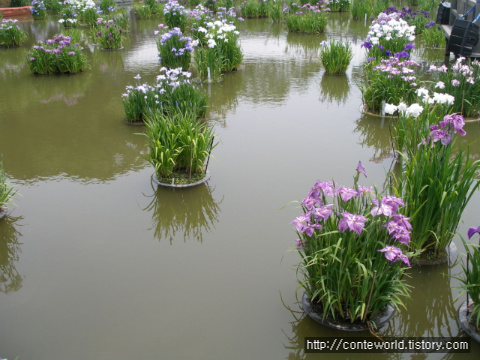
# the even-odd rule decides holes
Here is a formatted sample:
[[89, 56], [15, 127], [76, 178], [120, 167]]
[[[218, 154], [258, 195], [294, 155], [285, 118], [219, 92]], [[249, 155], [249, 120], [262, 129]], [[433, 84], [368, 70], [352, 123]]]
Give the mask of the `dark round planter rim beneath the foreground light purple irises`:
[[[302, 306], [303, 306], [303, 310], [308, 316], [310, 316], [316, 322], [324, 326], [327, 326], [329, 328], [332, 328], [335, 330], [343, 330], [343, 331], [370, 330], [370, 328], [368, 327], [368, 324], [355, 324], [355, 323], [352, 324], [350, 321], [342, 322], [342, 321], [337, 321], [337, 320], [328, 319], [328, 318], [323, 319], [320, 314], [313, 311], [312, 304], [310, 303], [310, 299], [308, 298], [306, 293], [304, 293], [302, 297]], [[371, 319], [371, 321], [375, 322], [375, 325], [377, 326], [377, 328], [380, 328], [392, 318], [394, 313], [395, 313], [395, 309], [393, 308], [393, 306], [388, 305], [383, 312], [377, 314], [373, 319]]]

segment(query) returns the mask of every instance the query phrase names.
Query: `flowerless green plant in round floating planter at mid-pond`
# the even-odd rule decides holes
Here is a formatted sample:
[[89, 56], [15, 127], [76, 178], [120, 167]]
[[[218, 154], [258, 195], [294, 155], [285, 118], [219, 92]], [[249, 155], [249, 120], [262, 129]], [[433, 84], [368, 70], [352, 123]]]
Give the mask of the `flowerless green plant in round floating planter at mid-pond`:
[[185, 187], [206, 182], [214, 144], [213, 128], [194, 113], [165, 116], [154, 114], [146, 122], [147, 161], [155, 169], [159, 185]]

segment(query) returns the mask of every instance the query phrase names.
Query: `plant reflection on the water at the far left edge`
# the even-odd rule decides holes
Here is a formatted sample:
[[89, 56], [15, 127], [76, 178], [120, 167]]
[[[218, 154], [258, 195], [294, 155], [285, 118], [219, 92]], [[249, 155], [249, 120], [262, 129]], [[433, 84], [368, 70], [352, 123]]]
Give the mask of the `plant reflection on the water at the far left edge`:
[[20, 259], [22, 234], [17, 230], [17, 222], [22, 217], [9, 217], [0, 220], [0, 292], [5, 294], [18, 291], [22, 287], [22, 276], [15, 263]]

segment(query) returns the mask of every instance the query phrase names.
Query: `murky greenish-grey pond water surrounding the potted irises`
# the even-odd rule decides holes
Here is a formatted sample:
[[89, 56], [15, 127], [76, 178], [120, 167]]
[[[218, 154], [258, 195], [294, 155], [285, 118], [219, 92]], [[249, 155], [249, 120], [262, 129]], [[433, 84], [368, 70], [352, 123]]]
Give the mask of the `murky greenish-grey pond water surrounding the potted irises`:
[[[0, 222], [0, 357], [55, 359], [367, 359], [412, 355], [304, 354], [306, 336], [334, 332], [303, 315], [287, 252], [304, 197], [319, 178], [381, 184], [391, 158], [388, 120], [361, 113], [363, 21], [332, 14], [326, 34], [288, 34], [268, 20], [241, 24], [242, 68], [205, 85], [221, 143], [212, 178], [194, 189], [156, 189], [141, 127], [123, 124], [133, 76], [152, 82], [156, 21], [132, 18], [122, 51], [87, 47], [90, 69], [35, 77], [35, 41], [58, 31], [22, 23], [30, 42], [0, 49], [0, 152], [21, 196]], [[353, 42], [347, 76], [328, 76], [319, 43]], [[443, 51], [417, 50], [424, 62]], [[480, 136], [466, 126], [464, 141]], [[476, 157], [480, 148], [472, 149]], [[475, 195], [460, 225], [478, 226]], [[462, 247], [455, 239], [460, 252]], [[462, 336], [454, 301], [458, 264], [413, 268], [408, 310], [383, 336]], [[355, 335], [357, 336], [357, 335]], [[480, 354], [430, 354], [473, 359]]]

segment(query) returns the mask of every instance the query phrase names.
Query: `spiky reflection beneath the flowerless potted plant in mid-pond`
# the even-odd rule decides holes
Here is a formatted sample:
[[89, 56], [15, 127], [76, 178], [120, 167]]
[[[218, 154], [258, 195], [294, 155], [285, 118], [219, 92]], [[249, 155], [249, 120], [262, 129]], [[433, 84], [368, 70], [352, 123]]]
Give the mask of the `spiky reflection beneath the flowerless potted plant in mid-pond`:
[[221, 201], [216, 201], [208, 184], [175, 189], [159, 186], [144, 210], [152, 213], [155, 238], [168, 240], [181, 238], [203, 242], [218, 222]]

